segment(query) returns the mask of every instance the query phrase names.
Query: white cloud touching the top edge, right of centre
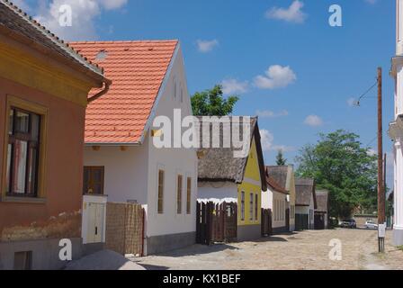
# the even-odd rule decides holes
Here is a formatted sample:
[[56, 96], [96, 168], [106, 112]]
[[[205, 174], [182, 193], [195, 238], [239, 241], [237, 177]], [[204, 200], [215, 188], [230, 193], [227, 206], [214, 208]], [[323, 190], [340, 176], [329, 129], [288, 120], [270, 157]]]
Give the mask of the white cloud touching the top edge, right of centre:
[[273, 7], [266, 12], [265, 16], [291, 23], [304, 23], [308, 15], [302, 12], [303, 6], [303, 2], [295, 0], [288, 8]]

